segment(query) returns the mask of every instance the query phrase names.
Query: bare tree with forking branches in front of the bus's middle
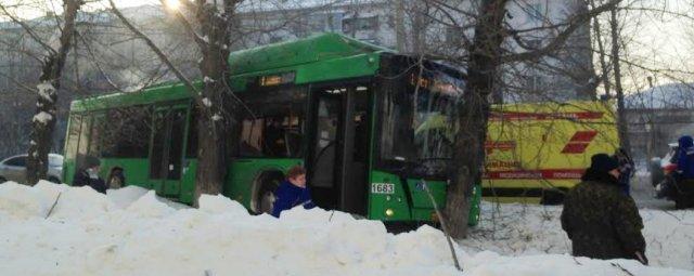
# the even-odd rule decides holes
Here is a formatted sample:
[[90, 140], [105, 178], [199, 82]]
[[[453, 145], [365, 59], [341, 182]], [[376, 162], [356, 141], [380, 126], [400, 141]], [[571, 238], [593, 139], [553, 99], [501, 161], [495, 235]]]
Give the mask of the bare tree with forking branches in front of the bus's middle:
[[229, 42], [236, 0], [224, 0], [221, 10], [215, 2], [196, 0], [182, 1], [183, 6], [194, 14], [195, 24], [181, 11], [174, 11], [176, 17], [193, 37], [202, 53], [198, 69], [203, 76], [202, 88], [188, 79], [163, 51], [144, 34], [138, 30], [116, 9], [112, 10], [121, 22], [139, 38], [144, 39], [152, 51], [185, 83], [195, 98], [197, 110], [197, 171], [195, 174], [194, 205], [202, 194], [219, 194], [227, 174], [228, 139], [235, 126], [234, 104], [229, 101], [231, 89], [228, 84]]

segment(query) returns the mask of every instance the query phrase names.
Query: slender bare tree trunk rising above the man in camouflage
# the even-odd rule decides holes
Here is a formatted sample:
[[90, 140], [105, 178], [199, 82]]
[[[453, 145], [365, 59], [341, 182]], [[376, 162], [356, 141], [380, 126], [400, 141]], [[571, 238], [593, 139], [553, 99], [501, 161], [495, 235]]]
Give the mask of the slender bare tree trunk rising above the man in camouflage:
[[609, 26], [612, 29], [612, 65], [615, 70], [615, 91], [617, 94], [617, 131], [619, 133], [619, 146], [631, 153], [629, 133], [627, 130], [627, 115], [625, 110], [625, 93], [621, 88], [621, 68], [619, 65], [619, 22], [617, 21], [617, 6], [609, 11]]

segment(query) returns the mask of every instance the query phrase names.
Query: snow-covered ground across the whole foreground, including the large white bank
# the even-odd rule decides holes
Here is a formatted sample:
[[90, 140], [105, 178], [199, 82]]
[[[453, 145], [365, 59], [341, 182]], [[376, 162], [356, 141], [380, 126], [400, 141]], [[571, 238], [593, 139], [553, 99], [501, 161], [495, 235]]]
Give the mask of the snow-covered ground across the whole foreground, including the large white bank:
[[[544, 218], [558, 209], [504, 208], [510, 212], [496, 224], [504, 229], [483, 239], [494, 225], [484, 221], [473, 233], [476, 239], [455, 248], [465, 270], [460, 273], [441, 232], [428, 226], [393, 235], [381, 222], [320, 209], [299, 208], [277, 220], [249, 215], [221, 196], [205, 196], [201, 208], [192, 209], [133, 187], [104, 196], [89, 187], [5, 183], [0, 185], [0, 275], [694, 275], [635, 261], [573, 258], [565, 254], [568, 245], [558, 229], [539, 235], [549, 228], [540, 225], [556, 226]], [[492, 209], [485, 205], [485, 213]], [[687, 213], [676, 215], [682, 215], [682, 225], [691, 222]], [[677, 226], [661, 212], [644, 211], [644, 216], [646, 235], [664, 238], [661, 255], [666, 246], [690, 242], [668, 234], [691, 233], [690, 226]], [[663, 227], [655, 229], [654, 223]], [[654, 234], [658, 231], [664, 234]], [[544, 253], [545, 247], [553, 254]], [[656, 246], [650, 241], [650, 247]], [[654, 263], [691, 268], [648, 253]]]

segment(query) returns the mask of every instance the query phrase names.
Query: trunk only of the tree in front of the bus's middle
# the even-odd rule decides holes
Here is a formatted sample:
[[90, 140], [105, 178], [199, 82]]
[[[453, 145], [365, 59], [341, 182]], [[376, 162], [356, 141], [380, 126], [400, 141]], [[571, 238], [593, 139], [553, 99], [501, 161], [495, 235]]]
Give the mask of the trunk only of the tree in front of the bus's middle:
[[[228, 4], [228, 3], [226, 3]], [[229, 4], [233, 5], [233, 2]], [[200, 70], [203, 75], [203, 91], [198, 108], [198, 143], [197, 171], [195, 173], [194, 206], [198, 206], [203, 194], [217, 195], [222, 192], [229, 157], [227, 149], [230, 129], [234, 127], [233, 109], [230, 101], [224, 101], [230, 93], [227, 86], [229, 76], [229, 24], [233, 9], [221, 14], [213, 5], [198, 1], [196, 17], [201, 23], [202, 34], [207, 39], [201, 49], [203, 60]]]

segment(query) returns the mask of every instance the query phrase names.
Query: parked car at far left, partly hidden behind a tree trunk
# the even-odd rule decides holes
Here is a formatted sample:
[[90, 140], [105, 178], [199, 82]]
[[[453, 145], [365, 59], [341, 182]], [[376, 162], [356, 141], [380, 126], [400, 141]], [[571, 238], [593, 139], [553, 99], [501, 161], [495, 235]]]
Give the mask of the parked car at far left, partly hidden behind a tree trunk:
[[[27, 155], [16, 155], [0, 161], [0, 183], [14, 181], [26, 182], [26, 159]], [[61, 183], [63, 180], [63, 156], [56, 154], [48, 155], [48, 181]]]

